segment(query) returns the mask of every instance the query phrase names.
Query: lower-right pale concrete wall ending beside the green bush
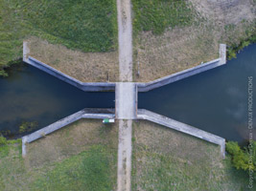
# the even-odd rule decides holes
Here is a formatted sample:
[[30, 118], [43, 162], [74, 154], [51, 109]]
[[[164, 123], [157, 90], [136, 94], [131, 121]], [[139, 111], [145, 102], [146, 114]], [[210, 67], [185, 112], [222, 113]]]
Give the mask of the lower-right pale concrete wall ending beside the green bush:
[[176, 121], [172, 118], [163, 117], [158, 114], [152, 113], [148, 110], [139, 109], [138, 110], [138, 119], [147, 119], [152, 122], [158, 123], [160, 125], [175, 129], [176, 131], [194, 136], [196, 138], [201, 138], [206, 141], [218, 144], [221, 146], [221, 156], [225, 157], [225, 139], [213, 134], [207, 133], [185, 123]]

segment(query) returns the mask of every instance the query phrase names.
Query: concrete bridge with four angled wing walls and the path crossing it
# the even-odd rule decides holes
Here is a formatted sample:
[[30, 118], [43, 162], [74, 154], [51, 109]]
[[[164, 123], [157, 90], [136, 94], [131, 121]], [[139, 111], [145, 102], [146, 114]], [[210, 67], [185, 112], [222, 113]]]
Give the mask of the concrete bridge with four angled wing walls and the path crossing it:
[[131, 174], [131, 149], [132, 149], [132, 120], [144, 119], [166, 126], [190, 136], [201, 138], [214, 144], [220, 145], [221, 156], [225, 157], [225, 139], [199, 130], [188, 124], [176, 121], [172, 118], [163, 117], [147, 110], [138, 109], [138, 92], [147, 92], [161, 86], [174, 83], [175, 81], [199, 74], [226, 63], [226, 46], [220, 45], [219, 58], [197, 67], [171, 74], [147, 83], [132, 82], [132, 25], [130, 0], [117, 0], [118, 12], [118, 42], [119, 42], [119, 69], [120, 81], [109, 82], [88, 82], [84, 83], [67, 74], [63, 74], [49, 65], [30, 56], [27, 42], [23, 42], [23, 61], [35, 68], [52, 74], [82, 91], [103, 92], [115, 91], [114, 109], [83, 109], [69, 117], [62, 118], [57, 122], [48, 125], [30, 135], [22, 138], [22, 156], [26, 156], [26, 144], [43, 138], [58, 129], [81, 118], [116, 118], [119, 121], [119, 145], [118, 145], [118, 172], [117, 190], [129, 191]]

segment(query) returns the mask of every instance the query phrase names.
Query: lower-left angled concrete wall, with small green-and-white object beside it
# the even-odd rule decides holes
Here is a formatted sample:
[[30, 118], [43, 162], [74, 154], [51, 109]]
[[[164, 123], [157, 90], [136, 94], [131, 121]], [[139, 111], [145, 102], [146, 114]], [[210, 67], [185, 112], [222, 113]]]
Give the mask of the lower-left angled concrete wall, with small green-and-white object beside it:
[[43, 138], [81, 118], [115, 118], [114, 109], [83, 109], [69, 117], [62, 118], [51, 125], [35, 131], [30, 135], [22, 137], [22, 156], [26, 156], [26, 143], [35, 141], [38, 138]]

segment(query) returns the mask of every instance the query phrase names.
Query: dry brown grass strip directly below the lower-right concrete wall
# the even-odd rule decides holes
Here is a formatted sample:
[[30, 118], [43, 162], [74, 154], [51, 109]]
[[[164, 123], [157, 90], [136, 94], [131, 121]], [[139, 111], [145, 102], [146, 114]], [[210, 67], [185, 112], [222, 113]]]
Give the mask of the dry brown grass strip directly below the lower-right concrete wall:
[[[212, 162], [221, 160], [219, 146], [147, 120], [134, 122], [133, 132], [135, 147], [172, 155], [178, 159], [189, 160], [190, 163], [200, 159], [210, 159]], [[214, 158], [210, 156], [210, 150], [216, 154]]]

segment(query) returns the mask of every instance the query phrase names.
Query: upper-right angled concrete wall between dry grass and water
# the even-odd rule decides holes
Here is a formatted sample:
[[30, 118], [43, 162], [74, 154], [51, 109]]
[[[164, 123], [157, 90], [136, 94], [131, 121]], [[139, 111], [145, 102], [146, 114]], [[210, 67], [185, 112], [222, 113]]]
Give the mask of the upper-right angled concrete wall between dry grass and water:
[[152, 89], [159, 88], [161, 86], [173, 83], [177, 80], [192, 76], [194, 74], [199, 74], [210, 69], [214, 69], [226, 63], [226, 45], [220, 45], [220, 58], [212, 60], [207, 63], [203, 63], [194, 68], [187, 69], [175, 74], [167, 75], [165, 77], [158, 78], [148, 83], [137, 83], [139, 92], [148, 92]]

